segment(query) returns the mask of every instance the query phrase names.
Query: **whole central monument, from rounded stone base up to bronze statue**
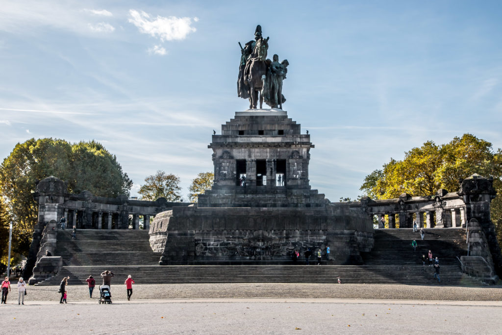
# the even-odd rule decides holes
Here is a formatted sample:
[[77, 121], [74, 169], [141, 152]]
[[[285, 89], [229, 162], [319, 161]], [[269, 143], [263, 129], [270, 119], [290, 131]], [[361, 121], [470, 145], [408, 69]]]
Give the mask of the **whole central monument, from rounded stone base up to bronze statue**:
[[[163, 252], [161, 265], [289, 264], [295, 250], [304, 261], [309, 248], [325, 256], [328, 246], [331, 264], [360, 264], [360, 253], [373, 246], [364, 210], [311, 189], [314, 145], [282, 110], [288, 61], [267, 60], [268, 41], [258, 26], [255, 40], [242, 48], [237, 88], [250, 109], [237, 111], [212, 136], [212, 189], [152, 222], [150, 241]], [[261, 109], [263, 100], [274, 108]]]

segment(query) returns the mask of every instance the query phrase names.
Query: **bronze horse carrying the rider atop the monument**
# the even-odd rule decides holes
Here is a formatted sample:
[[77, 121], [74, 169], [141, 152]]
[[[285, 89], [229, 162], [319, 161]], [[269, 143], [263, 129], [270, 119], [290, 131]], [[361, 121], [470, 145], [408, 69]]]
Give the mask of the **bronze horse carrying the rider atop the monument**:
[[256, 109], [260, 94], [260, 109], [263, 107], [263, 86], [267, 76], [267, 50], [269, 38], [260, 38], [256, 41], [255, 49], [249, 58], [244, 70], [244, 81], [249, 86], [249, 109]]

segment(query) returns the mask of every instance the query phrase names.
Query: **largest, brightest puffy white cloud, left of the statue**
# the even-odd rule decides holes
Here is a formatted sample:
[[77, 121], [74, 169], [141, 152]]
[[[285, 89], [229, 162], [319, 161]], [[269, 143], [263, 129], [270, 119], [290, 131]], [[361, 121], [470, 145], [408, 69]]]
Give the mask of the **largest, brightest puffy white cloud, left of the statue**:
[[[129, 15], [131, 17], [129, 22], [138, 27], [141, 33], [149, 34], [161, 41], [184, 40], [188, 34], [196, 31], [191, 27], [191, 18], [157, 16], [151, 19], [147, 13], [136, 10], [129, 10]], [[194, 18], [193, 21], [197, 22], [198, 19]]]

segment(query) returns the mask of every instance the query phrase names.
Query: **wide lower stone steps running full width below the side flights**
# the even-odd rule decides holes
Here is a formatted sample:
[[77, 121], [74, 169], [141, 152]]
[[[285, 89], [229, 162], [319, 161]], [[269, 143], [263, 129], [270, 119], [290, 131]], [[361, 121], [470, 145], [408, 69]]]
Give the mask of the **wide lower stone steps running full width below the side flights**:
[[[458, 266], [442, 266], [448, 275], [442, 285], [483, 285], [458, 271]], [[84, 285], [92, 275], [99, 278], [104, 270], [113, 271], [115, 284], [122, 284], [130, 274], [137, 284], [186, 284], [186, 283], [342, 283], [356, 284], [420, 284], [436, 285], [432, 267], [420, 266], [342, 266], [342, 265], [264, 265], [264, 266], [102, 266], [63, 267], [61, 272], [37, 285], [58, 285], [70, 276], [70, 285]]]

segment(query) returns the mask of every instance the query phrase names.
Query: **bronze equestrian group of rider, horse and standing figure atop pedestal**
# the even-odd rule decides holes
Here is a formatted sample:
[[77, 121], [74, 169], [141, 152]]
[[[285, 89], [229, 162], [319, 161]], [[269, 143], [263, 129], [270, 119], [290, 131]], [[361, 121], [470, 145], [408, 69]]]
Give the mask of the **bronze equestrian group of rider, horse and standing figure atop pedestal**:
[[286, 98], [282, 94], [282, 82], [288, 72], [288, 60], [279, 63], [279, 56], [274, 55], [273, 61], [267, 59], [269, 38], [262, 37], [262, 27], [258, 25], [255, 40], [240, 46], [239, 75], [237, 78], [237, 96], [249, 99], [249, 109], [256, 109], [260, 101], [272, 108], [281, 108]]

